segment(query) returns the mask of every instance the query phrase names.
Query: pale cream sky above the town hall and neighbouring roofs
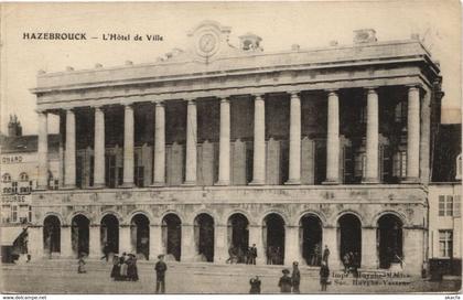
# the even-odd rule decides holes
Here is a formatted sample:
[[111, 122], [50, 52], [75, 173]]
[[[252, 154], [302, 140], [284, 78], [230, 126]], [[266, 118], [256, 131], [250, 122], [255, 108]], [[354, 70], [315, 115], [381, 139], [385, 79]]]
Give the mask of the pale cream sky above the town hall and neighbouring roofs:
[[[23, 133], [37, 131], [37, 71], [46, 73], [151, 63], [174, 47], [186, 47], [186, 33], [203, 20], [232, 28], [230, 42], [252, 32], [267, 52], [352, 44], [353, 31], [375, 29], [378, 41], [420, 34], [440, 62], [443, 76], [443, 122], [460, 122], [461, 20], [459, 1], [308, 1], [308, 2], [139, 2], [139, 3], [3, 3], [1, 7], [1, 131], [18, 115]], [[162, 42], [31, 41], [24, 32], [160, 34]], [[57, 120], [50, 118], [50, 132]]]

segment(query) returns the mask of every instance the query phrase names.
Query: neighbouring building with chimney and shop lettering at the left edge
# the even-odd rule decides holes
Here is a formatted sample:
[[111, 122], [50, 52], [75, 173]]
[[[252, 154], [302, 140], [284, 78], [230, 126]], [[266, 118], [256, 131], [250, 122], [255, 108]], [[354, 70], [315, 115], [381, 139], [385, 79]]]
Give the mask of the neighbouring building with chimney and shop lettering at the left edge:
[[[17, 116], [10, 116], [8, 137], [1, 137], [1, 246], [2, 260], [26, 253], [25, 229], [32, 222], [31, 199], [37, 182], [37, 136], [22, 136]], [[60, 184], [60, 136], [50, 136], [49, 189]]]

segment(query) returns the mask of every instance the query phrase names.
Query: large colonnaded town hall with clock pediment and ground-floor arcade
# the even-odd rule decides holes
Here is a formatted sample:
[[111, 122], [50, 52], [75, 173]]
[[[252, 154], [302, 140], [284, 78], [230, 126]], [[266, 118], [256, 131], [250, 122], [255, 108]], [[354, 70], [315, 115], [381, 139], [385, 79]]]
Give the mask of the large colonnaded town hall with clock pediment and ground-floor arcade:
[[[153, 64], [37, 75], [32, 257], [154, 259], [421, 274], [431, 146], [442, 93], [418, 36], [266, 53], [205, 21]], [[47, 190], [47, 116], [61, 117], [58, 190]]]

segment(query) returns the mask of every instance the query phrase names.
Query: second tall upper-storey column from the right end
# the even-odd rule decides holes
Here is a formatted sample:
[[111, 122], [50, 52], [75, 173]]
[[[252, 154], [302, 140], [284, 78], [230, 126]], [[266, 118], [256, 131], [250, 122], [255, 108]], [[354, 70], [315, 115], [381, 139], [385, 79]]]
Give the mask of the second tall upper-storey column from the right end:
[[378, 183], [378, 94], [367, 92], [366, 173], [363, 183]]

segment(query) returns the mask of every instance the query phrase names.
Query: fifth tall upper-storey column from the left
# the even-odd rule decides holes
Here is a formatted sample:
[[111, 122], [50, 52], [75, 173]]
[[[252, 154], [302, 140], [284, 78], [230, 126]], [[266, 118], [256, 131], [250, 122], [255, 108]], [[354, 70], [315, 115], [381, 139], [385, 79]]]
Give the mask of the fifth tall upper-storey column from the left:
[[155, 103], [153, 185], [165, 184], [165, 107]]

